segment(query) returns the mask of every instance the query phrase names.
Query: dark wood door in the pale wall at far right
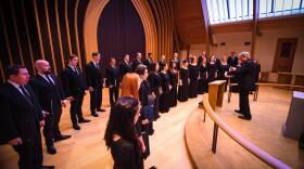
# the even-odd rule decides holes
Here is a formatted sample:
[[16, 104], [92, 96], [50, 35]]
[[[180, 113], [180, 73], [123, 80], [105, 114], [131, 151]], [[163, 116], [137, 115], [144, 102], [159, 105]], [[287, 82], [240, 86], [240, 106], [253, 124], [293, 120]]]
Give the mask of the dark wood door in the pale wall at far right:
[[296, 43], [297, 38], [278, 39], [273, 72], [291, 72]]

